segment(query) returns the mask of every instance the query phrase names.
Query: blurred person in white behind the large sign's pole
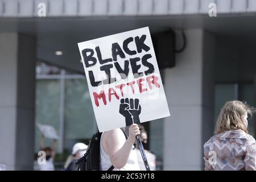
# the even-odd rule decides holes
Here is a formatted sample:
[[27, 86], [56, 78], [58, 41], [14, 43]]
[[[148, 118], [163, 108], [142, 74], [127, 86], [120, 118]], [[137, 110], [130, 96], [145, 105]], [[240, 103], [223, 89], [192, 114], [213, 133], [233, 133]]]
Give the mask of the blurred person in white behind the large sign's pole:
[[[147, 144], [147, 131], [144, 129], [143, 125], [139, 125], [139, 129], [141, 130], [141, 142], [143, 144], [143, 146], [145, 146]], [[145, 150], [145, 154], [147, 157], [147, 162], [148, 162], [148, 166], [150, 167], [151, 171], [155, 171], [156, 169], [156, 156], [155, 154], [153, 154], [152, 152]], [[141, 156], [141, 151], [139, 150], [139, 145], [137, 143], [136, 145], [136, 153], [138, 156], [138, 162], [139, 162], [139, 168], [141, 169], [141, 171], [146, 171], [146, 167], [144, 165], [142, 156]]]

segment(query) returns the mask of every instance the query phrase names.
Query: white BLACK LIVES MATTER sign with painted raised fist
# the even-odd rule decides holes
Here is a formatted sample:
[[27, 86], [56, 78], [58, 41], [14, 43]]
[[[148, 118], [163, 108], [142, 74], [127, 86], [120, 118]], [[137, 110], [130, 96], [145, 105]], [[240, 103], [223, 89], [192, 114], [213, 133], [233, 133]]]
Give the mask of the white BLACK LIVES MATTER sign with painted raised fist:
[[100, 132], [170, 116], [148, 27], [78, 46]]

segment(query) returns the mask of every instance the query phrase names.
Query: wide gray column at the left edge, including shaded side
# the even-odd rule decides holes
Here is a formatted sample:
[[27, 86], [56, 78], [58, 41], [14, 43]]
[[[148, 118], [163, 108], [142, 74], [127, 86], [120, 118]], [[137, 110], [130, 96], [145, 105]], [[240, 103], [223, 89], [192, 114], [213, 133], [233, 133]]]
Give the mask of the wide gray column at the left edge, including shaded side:
[[36, 42], [0, 33], [0, 163], [32, 169], [34, 160]]

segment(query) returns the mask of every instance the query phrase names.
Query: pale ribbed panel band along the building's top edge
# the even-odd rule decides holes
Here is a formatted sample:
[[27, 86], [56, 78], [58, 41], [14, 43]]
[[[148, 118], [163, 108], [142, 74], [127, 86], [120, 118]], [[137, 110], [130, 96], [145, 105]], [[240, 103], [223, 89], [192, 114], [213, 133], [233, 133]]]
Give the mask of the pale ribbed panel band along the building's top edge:
[[[20, 6], [18, 6], [18, 2]], [[254, 0], [12, 0], [0, 1], [0, 17], [33, 17], [39, 3], [45, 3], [47, 16], [113, 15], [187, 15], [208, 14], [209, 3], [217, 4], [218, 13], [256, 11]]]

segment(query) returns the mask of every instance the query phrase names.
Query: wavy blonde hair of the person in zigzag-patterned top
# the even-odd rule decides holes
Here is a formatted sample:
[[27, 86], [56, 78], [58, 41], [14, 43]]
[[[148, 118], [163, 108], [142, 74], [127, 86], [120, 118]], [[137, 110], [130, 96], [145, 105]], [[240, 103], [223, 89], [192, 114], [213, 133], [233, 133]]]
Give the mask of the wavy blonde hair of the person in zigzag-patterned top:
[[218, 115], [214, 133], [222, 133], [230, 130], [243, 130], [248, 133], [242, 117], [246, 114], [252, 115], [255, 109], [245, 102], [229, 101], [226, 102]]

